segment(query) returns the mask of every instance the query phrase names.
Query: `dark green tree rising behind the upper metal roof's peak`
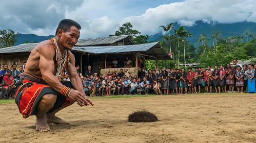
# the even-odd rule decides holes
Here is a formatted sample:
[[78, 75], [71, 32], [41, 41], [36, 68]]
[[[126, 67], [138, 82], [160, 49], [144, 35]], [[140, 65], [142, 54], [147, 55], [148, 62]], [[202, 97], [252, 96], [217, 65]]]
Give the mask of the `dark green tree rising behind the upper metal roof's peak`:
[[136, 35], [141, 34], [141, 32], [133, 30], [132, 28], [133, 27], [130, 22], [124, 23], [119, 30], [115, 31], [115, 34], [109, 36], [130, 35], [130, 37], [133, 39], [136, 37]]

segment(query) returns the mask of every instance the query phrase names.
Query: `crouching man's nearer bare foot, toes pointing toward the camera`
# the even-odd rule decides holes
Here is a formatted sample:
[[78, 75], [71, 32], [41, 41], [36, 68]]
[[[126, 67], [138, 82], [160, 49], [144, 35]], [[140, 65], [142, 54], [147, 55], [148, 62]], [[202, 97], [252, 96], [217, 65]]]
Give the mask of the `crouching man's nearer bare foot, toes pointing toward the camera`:
[[46, 117], [47, 117], [46, 114], [43, 116], [36, 115], [36, 122], [35, 122], [36, 131], [47, 132], [51, 130], [50, 127], [48, 126]]

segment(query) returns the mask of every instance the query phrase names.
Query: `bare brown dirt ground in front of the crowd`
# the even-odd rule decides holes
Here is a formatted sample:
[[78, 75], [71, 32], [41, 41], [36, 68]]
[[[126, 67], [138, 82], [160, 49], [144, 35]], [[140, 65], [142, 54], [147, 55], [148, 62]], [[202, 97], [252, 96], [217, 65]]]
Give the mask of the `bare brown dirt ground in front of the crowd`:
[[[35, 116], [24, 119], [16, 104], [0, 105], [0, 142], [256, 142], [256, 94], [188, 94], [94, 99], [57, 115], [70, 125], [35, 131]], [[146, 109], [159, 122], [129, 123]]]

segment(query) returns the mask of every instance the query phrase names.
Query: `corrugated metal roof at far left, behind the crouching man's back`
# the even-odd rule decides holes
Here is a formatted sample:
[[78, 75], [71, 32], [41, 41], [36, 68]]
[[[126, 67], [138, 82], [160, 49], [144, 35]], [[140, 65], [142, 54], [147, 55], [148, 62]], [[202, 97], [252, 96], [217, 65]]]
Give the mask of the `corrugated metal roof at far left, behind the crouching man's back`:
[[0, 54], [31, 52], [38, 43], [19, 44], [0, 49]]

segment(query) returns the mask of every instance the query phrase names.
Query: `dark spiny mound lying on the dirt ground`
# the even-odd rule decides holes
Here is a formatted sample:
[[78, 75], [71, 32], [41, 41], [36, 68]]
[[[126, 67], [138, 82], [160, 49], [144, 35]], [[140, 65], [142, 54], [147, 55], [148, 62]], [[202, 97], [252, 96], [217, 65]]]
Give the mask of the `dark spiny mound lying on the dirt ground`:
[[128, 116], [129, 122], [156, 122], [158, 118], [147, 110], [135, 111]]

